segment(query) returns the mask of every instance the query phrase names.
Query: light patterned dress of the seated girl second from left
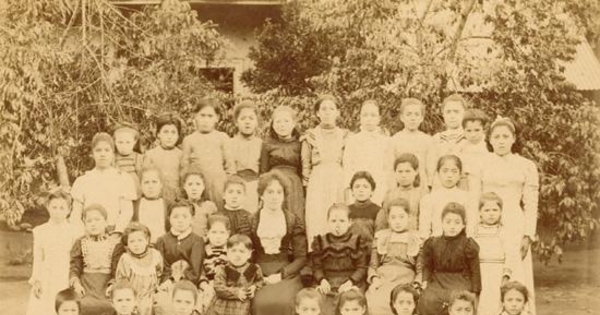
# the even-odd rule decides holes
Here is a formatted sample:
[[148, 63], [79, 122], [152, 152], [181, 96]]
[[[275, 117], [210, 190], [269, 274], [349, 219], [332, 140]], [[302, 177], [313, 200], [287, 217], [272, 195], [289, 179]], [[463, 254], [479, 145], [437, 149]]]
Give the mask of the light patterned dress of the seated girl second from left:
[[117, 264], [115, 279], [127, 279], [135, 291], [139, 315], [152, 315], [154, 293], [163, 271], [163, 260], [159, 251], [148, 248], [146, 253], [135, 257], [124, 253]]

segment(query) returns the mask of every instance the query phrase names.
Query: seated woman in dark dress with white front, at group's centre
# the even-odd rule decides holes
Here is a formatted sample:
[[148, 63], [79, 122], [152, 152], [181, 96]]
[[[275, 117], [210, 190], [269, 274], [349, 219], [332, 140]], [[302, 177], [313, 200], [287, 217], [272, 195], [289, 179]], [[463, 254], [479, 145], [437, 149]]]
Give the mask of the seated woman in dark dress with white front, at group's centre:
[[252, 239], [265, 286], [254, 297], [255, 315], [293, 315], [294, 297], [302, 288], [299, 272], [306, 262], [306, 234], [302, 220], [286, 209], [283, 182], [279, 173], [263, 174], [258, 182], [260, 205]]

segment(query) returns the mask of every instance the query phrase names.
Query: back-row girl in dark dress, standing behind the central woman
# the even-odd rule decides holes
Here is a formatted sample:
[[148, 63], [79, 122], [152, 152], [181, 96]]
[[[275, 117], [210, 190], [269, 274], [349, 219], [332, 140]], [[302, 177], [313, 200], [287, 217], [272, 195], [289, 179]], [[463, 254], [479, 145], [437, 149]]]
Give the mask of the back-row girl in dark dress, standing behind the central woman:
[[300, 160], [300, 133], [296, 130], [296, 113], [289, 106], [273, 111], [269, 134], [260, 154], [260, 173], [276, 172], [284, 179], [287, 210], [304, 220], [304, 188]]

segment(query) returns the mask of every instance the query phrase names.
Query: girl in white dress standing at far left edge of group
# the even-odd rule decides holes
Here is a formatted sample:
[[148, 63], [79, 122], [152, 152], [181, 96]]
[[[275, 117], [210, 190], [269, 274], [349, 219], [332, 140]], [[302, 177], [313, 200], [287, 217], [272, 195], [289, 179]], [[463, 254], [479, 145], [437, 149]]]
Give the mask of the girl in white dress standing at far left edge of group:
[[70, 201], [65, 192], [50, 193], [46, 203], [50, 220], [33, 229], [33, 268], [29, 279], [32, 289], [27, 315], [54, 314], [56, 294], [69, 287], [70, 252], [79, 234], [67, 221]]

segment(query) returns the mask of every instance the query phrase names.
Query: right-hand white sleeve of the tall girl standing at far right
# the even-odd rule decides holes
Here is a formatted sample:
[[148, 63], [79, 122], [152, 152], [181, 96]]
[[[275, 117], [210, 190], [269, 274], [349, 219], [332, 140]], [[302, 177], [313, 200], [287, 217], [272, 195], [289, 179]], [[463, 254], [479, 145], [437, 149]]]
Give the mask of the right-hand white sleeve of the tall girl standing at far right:
[[525, 185], [523, 186], [524, 234], [533, 240], [537, 226], [540, 179], [535, 163], [525, 158], [523, 160], [525, 163]]

